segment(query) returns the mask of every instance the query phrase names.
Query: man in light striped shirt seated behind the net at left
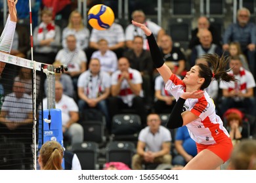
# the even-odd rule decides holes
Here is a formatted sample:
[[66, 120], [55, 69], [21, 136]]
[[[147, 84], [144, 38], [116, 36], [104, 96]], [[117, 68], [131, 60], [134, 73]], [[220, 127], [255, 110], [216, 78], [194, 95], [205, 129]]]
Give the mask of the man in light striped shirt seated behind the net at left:
[[[0, 134], [25, 144], [25, 168], [30, 169], [32, 158], [33, 100], [25, 93], [25, 84], [14, 81], [12, 93], [4, 97], [0, 112]], [[18, 136], [17, 136], [18, 134]]]

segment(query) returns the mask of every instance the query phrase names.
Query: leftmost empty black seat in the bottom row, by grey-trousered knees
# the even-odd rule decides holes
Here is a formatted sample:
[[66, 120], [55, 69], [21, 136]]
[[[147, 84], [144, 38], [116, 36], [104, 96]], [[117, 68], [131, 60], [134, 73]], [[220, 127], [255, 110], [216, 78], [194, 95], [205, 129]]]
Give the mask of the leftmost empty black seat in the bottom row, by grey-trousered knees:
[[77, 155], [82, 170], [98, 169], [98, 144], [96, 142], [82, 142], [73, 144], [68, 149]]

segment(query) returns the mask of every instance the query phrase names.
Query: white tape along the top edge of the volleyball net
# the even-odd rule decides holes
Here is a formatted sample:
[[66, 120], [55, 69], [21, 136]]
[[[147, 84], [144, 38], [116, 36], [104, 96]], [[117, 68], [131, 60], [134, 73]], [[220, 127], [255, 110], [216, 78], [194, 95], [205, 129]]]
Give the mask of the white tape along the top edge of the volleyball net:
[[[5, 63], [11, 63], [14, 65], [18, 65], [20, 67], [26, 67], [29, 69], [34, 69], [34, 63], [35, 63], [35, 69], [37, 71], [41, 71], [41, 65], [42, 63], [37, 61], [32, 61], [30, 59], [20, 58], [16, 56], [12, 56], [10, 54], [5, 54], [3, 52], [0, 52], [0, 61], [3, 61]], [[43, 63], [45, 64], [45, 63]]]

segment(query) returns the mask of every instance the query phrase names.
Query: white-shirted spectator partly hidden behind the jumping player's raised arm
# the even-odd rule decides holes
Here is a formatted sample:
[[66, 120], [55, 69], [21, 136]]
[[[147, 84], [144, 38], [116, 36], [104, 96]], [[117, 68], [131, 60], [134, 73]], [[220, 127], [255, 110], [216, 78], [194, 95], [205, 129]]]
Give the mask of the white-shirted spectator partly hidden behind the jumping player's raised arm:
[[[172, 63], [168, 64], [168, 67], [173, 71], [175, 69]], [[175, 97], [171, 93], [165, 90], [165, 82], [162, 76], [157, 76], [155, 80], [155, 101], [154, 101], [154, 111], [157, 114], [170, 113], [173, 109], [176, 101]]]

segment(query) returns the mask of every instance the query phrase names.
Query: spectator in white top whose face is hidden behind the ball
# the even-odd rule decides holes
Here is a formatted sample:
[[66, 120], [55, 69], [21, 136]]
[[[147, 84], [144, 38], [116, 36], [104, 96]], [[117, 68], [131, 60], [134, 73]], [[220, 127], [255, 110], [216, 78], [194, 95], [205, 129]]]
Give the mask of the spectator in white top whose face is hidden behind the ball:
[[114, 22], [109, 29], [104, 31], [93, 29], [89, 42], [89, 46], [93, 49], [93, 52], [98, 50], [98, 41], [100, 39], [106, 39], [108, 41], [109, 49], [116, 53], [117, 58], [123, 55], [125, 34], [121, 25]]

